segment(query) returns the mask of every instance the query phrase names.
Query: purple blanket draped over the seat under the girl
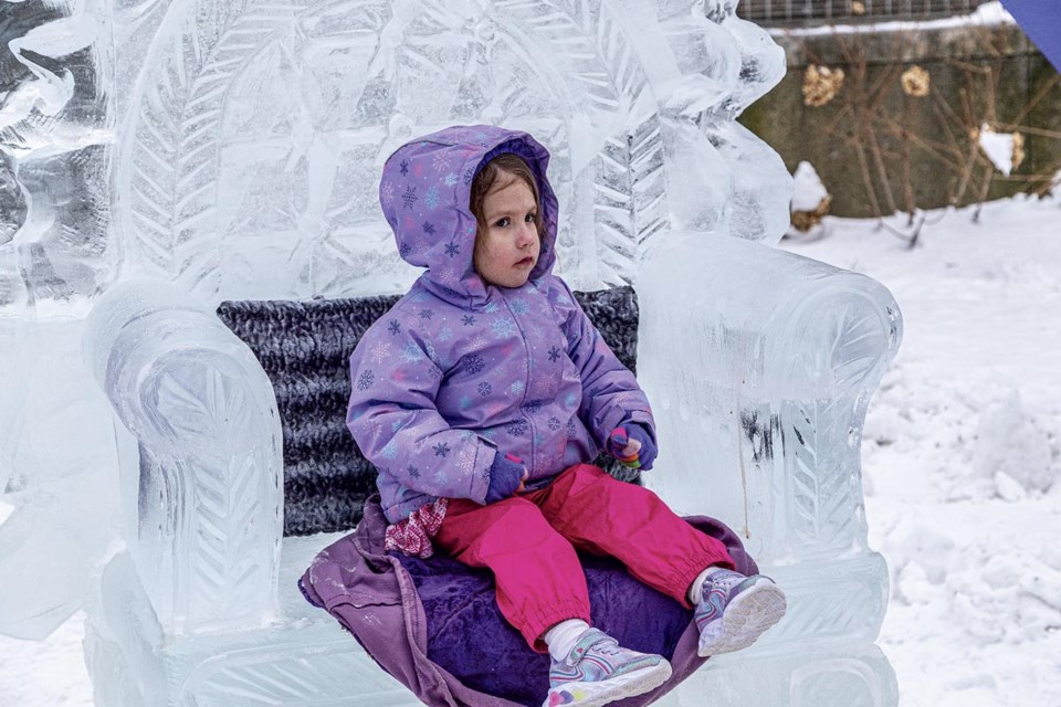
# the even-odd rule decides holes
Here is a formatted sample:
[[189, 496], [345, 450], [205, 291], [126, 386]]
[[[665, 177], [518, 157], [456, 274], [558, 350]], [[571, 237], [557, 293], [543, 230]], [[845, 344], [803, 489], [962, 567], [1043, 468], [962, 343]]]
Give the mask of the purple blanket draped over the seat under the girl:
[[[687, 518], [722, 540], [737, 570], [756, 572], [737, 536], [717, 520]], [[549, 658], [530, 651], [497, 610], [489, 571], [443, 557], [384, 551], [387, 520], [378, 496], [350, 535], [314, 559], [298, 584], [390, 675], [428, 705], [538, 707], [548, 689]], [[582, 556], [593, 625], [635, 651], [660, 653], [673, 674], [659, 688], [617, 705], [648, 705], [689, 677], [696, 655], [692, 612], [630, 577], [611, 559]]]

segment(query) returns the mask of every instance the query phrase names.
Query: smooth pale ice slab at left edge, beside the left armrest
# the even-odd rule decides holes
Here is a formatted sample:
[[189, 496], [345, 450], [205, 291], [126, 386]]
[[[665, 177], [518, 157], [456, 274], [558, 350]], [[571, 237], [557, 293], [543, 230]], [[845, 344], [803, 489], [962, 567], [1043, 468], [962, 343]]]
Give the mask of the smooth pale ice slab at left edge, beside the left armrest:
[[[0, 316], [0, 630], [40, 639], [91, 588], [118, 509], [106, 399], [81, 361], [84, 321]], [[13, 401], [13, 402], [12, 402]], [[34, 581], [13, 578], [32, 577]]]

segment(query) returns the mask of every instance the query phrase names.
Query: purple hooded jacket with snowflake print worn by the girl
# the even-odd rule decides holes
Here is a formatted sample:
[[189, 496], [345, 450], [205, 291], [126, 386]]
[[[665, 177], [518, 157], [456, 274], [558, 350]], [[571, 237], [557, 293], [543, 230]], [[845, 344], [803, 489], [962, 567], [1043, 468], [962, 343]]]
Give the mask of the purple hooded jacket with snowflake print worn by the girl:
[[[472, 179], [503, 152], [533, 170], [544, 223], [525, 285], [475, 273]], [[526, 133], [452, 127], [399, 148], [379, 200], [408, 263], [427, 267], [350, 357], [347, 425], [379, 471], [381, 506], [399, 523], [439, 497], [485, 503], [498, 452], [521, 457], [530, 488], [591, 462], [617, 426], [655, 436], [648, 399], [553, 275], [557, 200], [548, 151]]]

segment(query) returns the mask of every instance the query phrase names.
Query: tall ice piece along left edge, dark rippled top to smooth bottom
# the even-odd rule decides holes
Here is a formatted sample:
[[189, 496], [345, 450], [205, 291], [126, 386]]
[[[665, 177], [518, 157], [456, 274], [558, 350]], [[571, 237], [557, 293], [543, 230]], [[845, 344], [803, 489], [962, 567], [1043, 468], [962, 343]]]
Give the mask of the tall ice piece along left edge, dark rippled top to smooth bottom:
[[39, 580], [0, 584], [0, 631], [20, 637], [76, 610], [113, 538], [116, 499], [94, 493], [113, 485], [111, 423], [78, 344], [116, 272], [99, 11], [0, 3], [0, 493], [17, 506], [0, 564]]

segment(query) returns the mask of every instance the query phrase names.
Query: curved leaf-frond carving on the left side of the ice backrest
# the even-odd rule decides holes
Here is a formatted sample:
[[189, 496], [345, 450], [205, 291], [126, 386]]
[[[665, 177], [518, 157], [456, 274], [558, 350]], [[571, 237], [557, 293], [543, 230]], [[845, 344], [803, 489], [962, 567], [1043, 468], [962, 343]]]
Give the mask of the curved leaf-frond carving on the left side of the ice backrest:
[[221, 104], [232, 75], [302, 10], [261, 4], [230, 21], [224, 6], [175, 2], [168, 10], [154, 46], [162, 55], [138, 84], [130, 158], [122, 162], [130, 167], [118, 186], [128, 203], [126, 230], [148, 262], [208, 295], [217, 291], [219, 267], [209, 226]]

